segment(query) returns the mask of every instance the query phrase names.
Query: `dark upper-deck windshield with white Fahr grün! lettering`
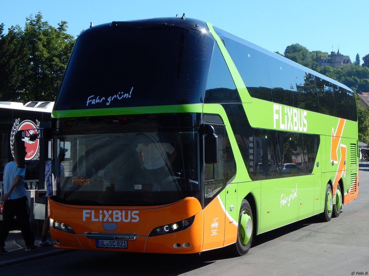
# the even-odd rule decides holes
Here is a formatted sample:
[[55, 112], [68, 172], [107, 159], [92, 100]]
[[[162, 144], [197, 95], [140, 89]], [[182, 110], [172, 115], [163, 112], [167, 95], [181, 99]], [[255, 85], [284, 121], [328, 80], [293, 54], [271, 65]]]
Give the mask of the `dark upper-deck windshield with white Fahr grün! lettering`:
[[84, 31], [55, 110], [201, 103], [214, 39], [184, 28]]

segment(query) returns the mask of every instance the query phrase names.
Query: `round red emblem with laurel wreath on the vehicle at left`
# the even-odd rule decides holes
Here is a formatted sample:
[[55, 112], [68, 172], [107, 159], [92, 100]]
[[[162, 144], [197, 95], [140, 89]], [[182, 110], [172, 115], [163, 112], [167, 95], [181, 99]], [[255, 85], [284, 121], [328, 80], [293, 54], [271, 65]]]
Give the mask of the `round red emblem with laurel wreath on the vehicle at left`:
[[14, 149], [13, 149], [13, 142], [14, 142], [14, 136], [15, 133], [18, 130], [26, 130], [25, 136], [22, 140], [24, 141], [24, 145], [26, 147], [27, 155], [25, 156], [25, 161], [27, 163], [27, 166], [35, 166], [38, 163], [39, 159], [39, 141], [36, 139], [35, 141], [30, 141], [30, 138], [27, 136], [30, 136], [37, 132], [37, 128], [39, 128], [39, 121], [36, 120], [36, 124], [32, 122], [31, 120], [24, 120], [21, 123], [19, 123], [20, 119], [16, 119], [14, 121], [13, 128], [11, 129], [11, 135], [10, 135], [10, 148], [11, 148], [11, 154], [14, 157]]

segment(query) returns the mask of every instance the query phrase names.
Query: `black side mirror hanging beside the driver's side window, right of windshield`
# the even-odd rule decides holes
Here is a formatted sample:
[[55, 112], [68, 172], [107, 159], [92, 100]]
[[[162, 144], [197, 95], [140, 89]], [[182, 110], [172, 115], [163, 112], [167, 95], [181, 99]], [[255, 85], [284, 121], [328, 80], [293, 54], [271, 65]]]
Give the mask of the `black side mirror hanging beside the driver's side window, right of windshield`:
[[214, 127], [208, 124], [201, 124], [199, 132], [205, 135], [205, 164], [218, 163], [218, 135], [215, 134]]

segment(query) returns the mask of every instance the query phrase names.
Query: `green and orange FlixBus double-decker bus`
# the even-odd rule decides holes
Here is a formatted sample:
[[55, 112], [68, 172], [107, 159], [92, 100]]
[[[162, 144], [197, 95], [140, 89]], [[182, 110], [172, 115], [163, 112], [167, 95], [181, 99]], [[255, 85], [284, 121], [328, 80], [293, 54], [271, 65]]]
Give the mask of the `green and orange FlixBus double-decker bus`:
[[83, 31], [51, 127], [57, 248], [244, 255], [358, 194], [354, 92], [184, 16]]

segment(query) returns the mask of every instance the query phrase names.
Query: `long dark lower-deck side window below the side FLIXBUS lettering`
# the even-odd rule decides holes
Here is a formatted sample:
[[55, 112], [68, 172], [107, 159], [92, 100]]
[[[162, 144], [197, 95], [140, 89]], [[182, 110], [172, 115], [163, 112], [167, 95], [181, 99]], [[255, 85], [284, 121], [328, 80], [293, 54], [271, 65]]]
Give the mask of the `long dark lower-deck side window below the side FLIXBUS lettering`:
[[[252, 180], [310, 174], [319, 135], [252, 128], [242, 105], [223, 105]], [[286, 164], [296, 169], [284, 169]]]

